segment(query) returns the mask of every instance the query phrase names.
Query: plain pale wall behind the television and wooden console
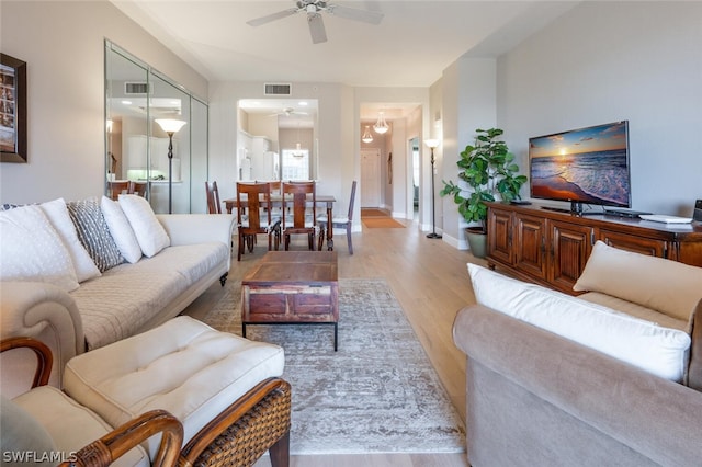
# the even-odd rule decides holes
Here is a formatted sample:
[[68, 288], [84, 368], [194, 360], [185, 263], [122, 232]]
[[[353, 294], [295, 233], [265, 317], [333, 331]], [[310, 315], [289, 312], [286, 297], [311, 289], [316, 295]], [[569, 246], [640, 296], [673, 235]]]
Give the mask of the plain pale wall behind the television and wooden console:
[[497, 94], [522, 168], [531, 136], [627, 119], [633, 207], [702, 198], [701, 2], [582, 2], [499, 58]]

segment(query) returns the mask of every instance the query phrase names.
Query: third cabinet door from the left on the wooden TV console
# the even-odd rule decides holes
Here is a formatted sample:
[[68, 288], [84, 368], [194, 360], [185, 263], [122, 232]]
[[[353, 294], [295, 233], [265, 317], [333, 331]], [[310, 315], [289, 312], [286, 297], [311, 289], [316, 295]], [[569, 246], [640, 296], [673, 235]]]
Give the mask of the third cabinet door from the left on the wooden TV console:
[[585, 270], [595, 235], [591, 227], [550, 220], [551, 267], [548, 282], [573, 293], [573, 286]]

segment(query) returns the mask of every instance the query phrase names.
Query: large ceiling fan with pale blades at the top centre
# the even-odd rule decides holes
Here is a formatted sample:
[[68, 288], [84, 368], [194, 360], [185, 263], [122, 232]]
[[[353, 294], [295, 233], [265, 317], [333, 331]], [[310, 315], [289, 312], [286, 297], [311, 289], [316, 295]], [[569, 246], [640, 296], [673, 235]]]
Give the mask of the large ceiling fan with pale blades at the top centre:
[[313, 44], [327, 42], [327, 31], [321, 19], [321, 12], [333, 14], [347, 20], [362, 21], [370, 24], [380, 24], [383, 20], [383, 13], [377, 11], [360, 10], [356, 8], [342, 7], [324, 0], [297, 0], [296, 8], [279, 11], [278, 13], [257, 18], [247, 21], [251, 26], [260, 26], [271, 21], [281, 20], [295, 13], [307, 13], [307, 24], [309, 25], [309, 34]]

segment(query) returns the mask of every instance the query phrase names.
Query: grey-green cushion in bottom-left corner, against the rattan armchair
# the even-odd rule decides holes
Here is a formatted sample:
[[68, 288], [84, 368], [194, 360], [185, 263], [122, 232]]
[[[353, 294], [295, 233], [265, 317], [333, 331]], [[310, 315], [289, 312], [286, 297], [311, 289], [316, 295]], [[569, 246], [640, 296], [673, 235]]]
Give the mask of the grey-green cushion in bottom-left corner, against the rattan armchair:
[[[22, 407], [0, 396], [0, 426], [2, 426], [2, 456], [3, 465], [32, 465], [52, 466], [52, 454], [56, 452], [56, 445], [46, 429], [30, 412]], [[33, 458], [7, 459], [5, 455], [27, 455]], [[43, 459], [46, 460], [43, 460]]]

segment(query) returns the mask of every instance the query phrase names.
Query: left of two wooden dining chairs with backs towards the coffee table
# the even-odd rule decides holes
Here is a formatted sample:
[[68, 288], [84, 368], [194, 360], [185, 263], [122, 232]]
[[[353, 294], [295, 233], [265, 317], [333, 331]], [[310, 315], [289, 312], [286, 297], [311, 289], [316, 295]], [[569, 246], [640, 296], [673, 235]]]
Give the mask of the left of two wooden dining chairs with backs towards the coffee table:
[[[246, 207], [244, 205], [246, 204]], [[237, 260], [241, 261], [245, 244], [249, 252], [253, 251], [259, 234], [268, 236], [268, 249], [279, 249], [281, 241], [281, 218], [273, 216], [271, 206], [270, 183], [237, 183], [237, 225], [239, 230], [239, 249]]]

